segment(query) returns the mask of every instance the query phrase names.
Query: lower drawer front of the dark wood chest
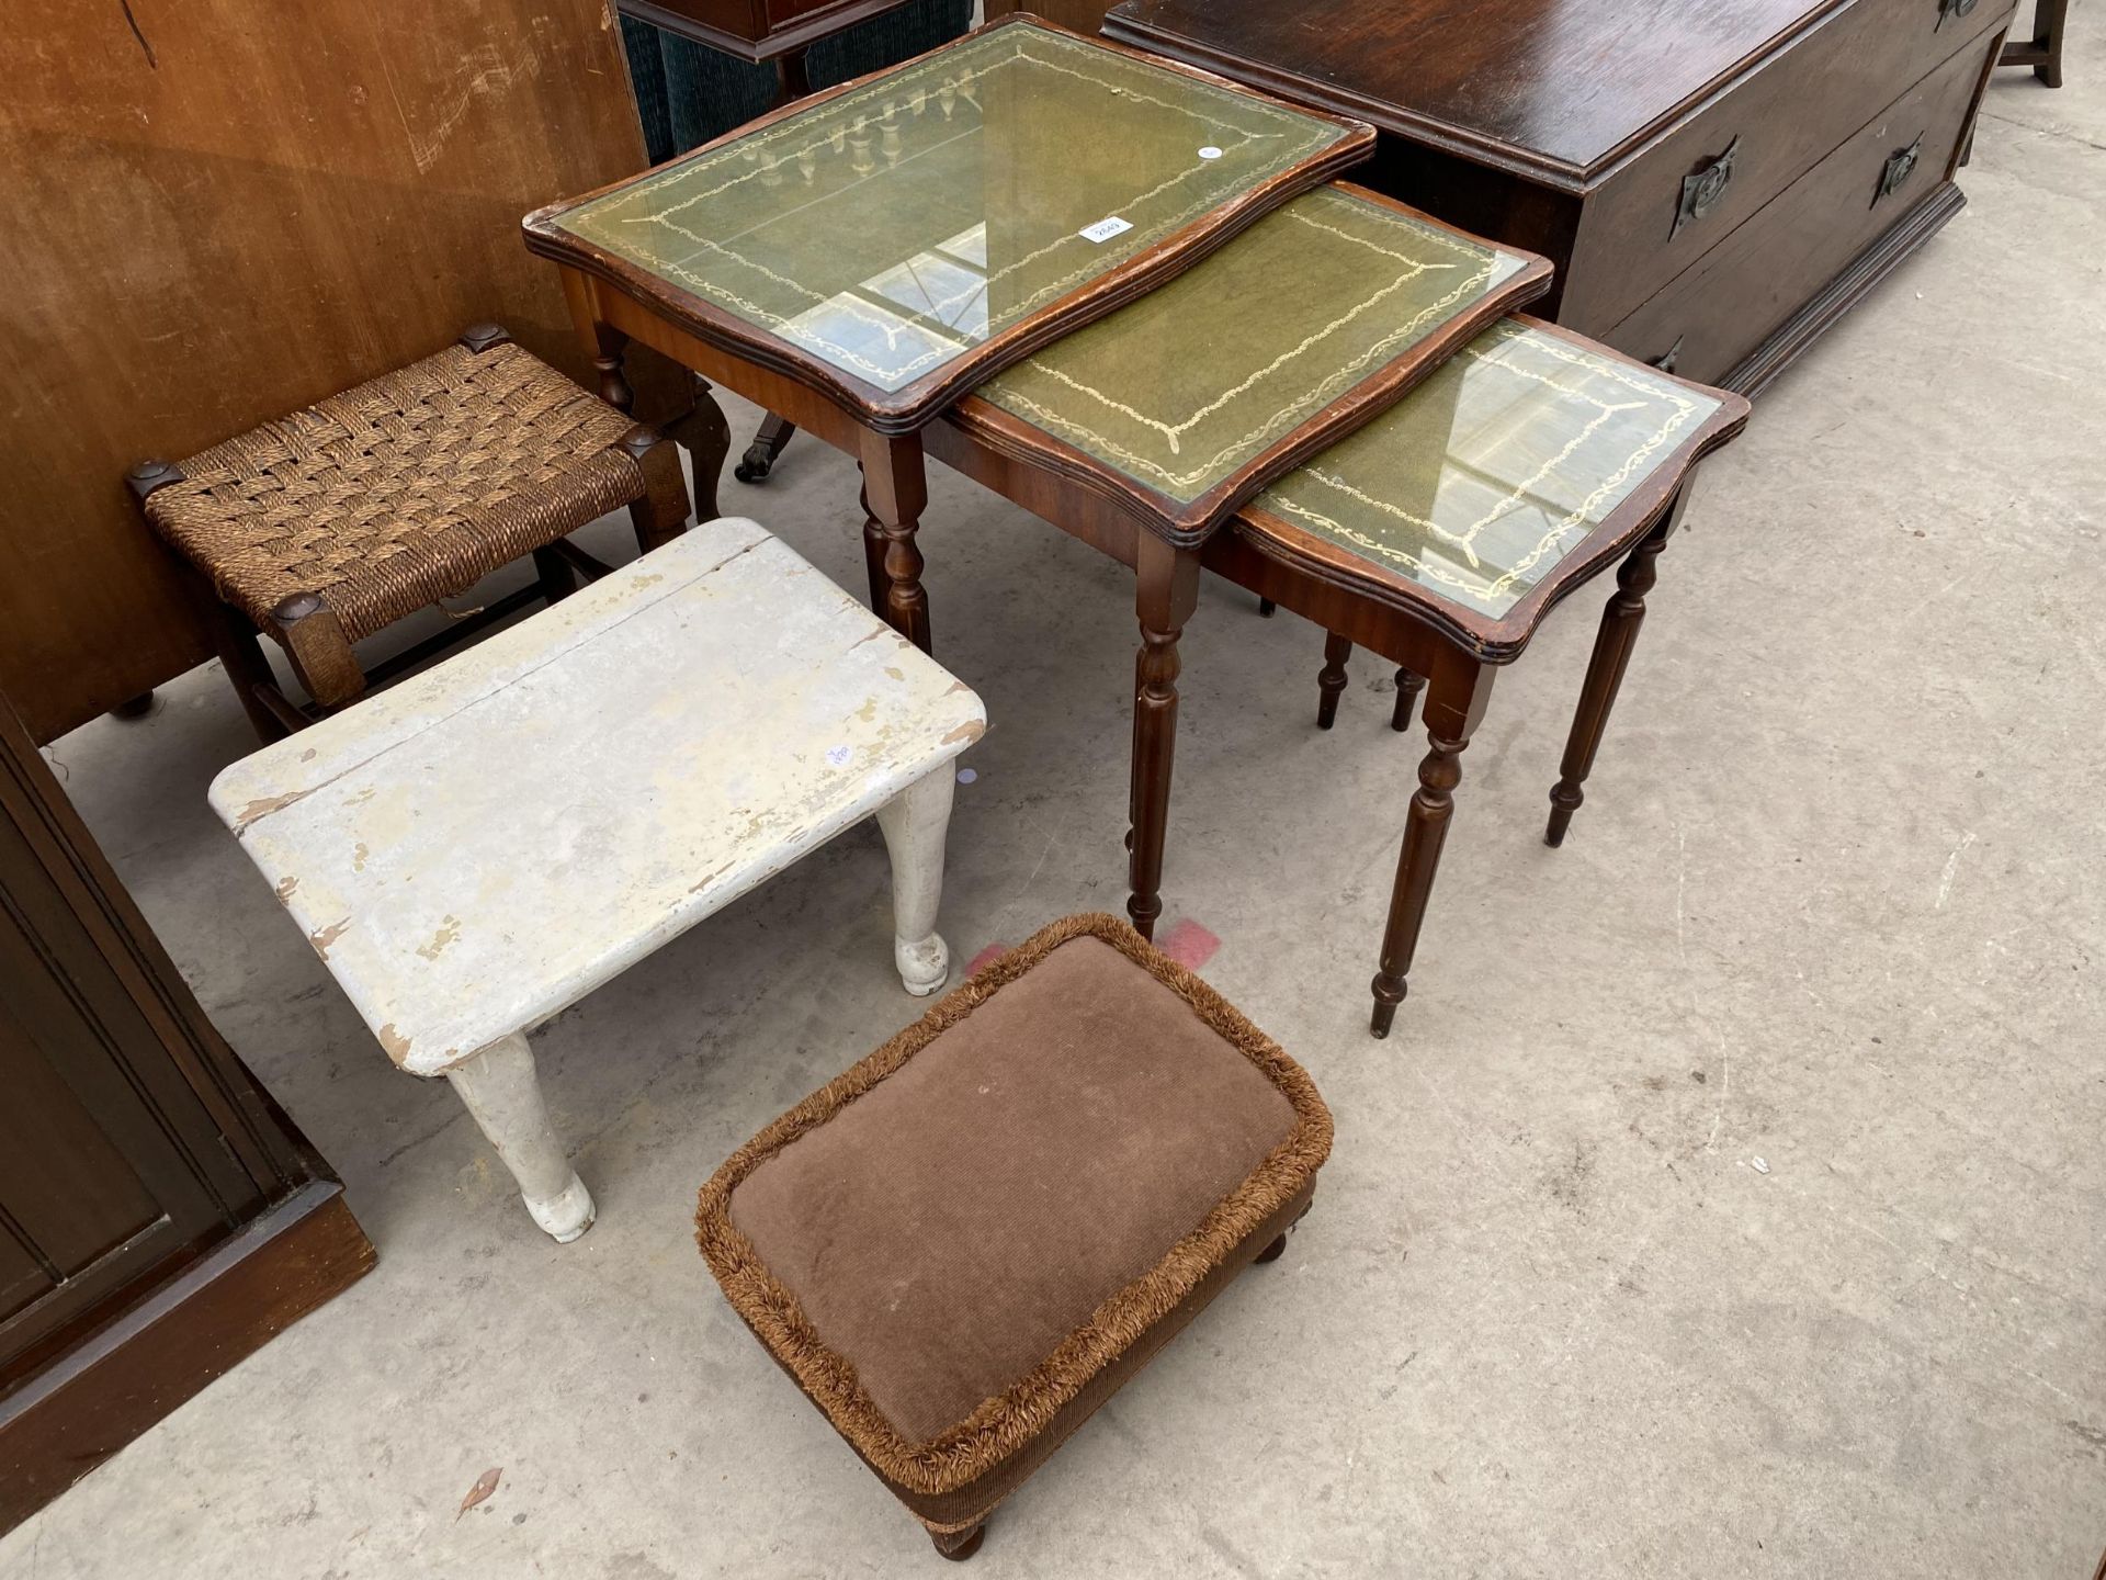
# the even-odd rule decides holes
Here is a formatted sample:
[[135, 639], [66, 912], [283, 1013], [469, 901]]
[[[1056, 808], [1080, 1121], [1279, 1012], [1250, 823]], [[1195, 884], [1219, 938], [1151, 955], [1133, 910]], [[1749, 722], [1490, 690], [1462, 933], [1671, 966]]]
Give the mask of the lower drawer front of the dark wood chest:
[[1620, 352], [1718, 381], [1946, 181], [1990, 40], [1946, 61], [1651, 301], [1607, 331]]

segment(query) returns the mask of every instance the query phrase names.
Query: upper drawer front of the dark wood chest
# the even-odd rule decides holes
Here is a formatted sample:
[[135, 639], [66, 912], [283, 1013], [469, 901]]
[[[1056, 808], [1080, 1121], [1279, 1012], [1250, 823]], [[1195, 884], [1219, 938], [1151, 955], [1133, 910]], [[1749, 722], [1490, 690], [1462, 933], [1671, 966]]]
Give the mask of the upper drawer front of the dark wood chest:
[[1598, 335], [1676, 278], [2009, 0], [1857, 0], [1727, 88], [1588, 198], [1558, 322]]

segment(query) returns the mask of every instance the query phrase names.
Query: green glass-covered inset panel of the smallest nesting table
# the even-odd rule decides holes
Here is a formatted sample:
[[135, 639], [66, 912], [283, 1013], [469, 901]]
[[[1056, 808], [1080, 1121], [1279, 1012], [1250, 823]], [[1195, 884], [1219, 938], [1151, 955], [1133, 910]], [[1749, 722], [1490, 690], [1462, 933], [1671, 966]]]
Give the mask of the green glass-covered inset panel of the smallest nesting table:
[[1481, 615], [1506, 615], [1718, 411], [1512, 320], [1251, 503]]

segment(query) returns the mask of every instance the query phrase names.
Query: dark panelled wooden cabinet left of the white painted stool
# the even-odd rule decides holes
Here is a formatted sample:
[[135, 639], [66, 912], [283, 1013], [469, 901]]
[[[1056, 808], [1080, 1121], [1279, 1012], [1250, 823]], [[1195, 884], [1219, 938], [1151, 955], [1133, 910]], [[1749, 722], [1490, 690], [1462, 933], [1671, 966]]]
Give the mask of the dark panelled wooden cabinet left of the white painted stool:
[[0, 697], [0, 1532], [371, 1266]]

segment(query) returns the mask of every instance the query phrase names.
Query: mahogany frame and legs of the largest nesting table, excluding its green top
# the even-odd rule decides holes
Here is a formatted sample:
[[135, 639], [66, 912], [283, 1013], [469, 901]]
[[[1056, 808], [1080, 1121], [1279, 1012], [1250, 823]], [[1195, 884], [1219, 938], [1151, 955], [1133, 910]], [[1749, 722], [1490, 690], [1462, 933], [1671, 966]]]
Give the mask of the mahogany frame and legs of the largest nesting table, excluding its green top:
[[[998, 27], [1042, 27], [1074, 38], [1068, 29], [1055, 27], [1030, 13], [1002, 17], [962, 38], [977, 38]], [[954, 48], [958, 42], [950, 40], [914, 59], [929, 59], [946, 48]], [[1177, 76], [1221, 86], [1243, 97], [1278, 103], [1264, 93], [1209, 72], [1177, 65], [1175, 61], [1158, 61], [1125, 44], [1110, 44], [1106, 40], [1082, 42], [1144, 59]], [[899, 65], [889, 65], [798, 99], [680, 158], [693, 158], [699, 152], [748, 137], [786, 116], [804, 114], [828, 99], [851, 93], [906, 65], [912, 65], [912, 61], [901, 61]], [[880, 390], [874, 383], [866, 383], [802, 352], [794, 343], [712, 305], [695, 293], [682, 291], [560, 230], [558, 221], [571, 209], [630, 185], [640, 177], [628, 177], [581, 198], [539, 209], [526, 215], [522, 230], [529, 251], [552, 259], [562, 274], [562, 291], [571, 303], [571, 316], [585, 350], [600, 373], [600, 396], [604, 400], [623, 411], [628, 409], [632, 396], [621, 360], [630, 341], [640, 341], [682, 362], [703, 379], [735, 390], [754, 404], [857, 457], [863, 468], [863, 508], [868, 512], [863, 546], [870, 556], [872, 592], [878, 592], [878, 575], [882, 573], [885, 598], [880, 611], [895, 630], [922, 651], [929, 651], [929, 596], [920, 586], [922, 556], [914, 544], [920, 512], [929, 503], [922, 430], [967, 390], [977, 388], [1040, 345], [1146, 295], [1289, 198], [1320, 185], [1337, 171], [1358, 162], [1373, 147], [1373, 129], [1356, 120], [1297, 105], [1283, 107], [1339, 126], [1339, 139], [1302, 164], [1257, 183], [1209, 215], [1188, 223], [1184, 230], [1135, 253], [1093, 284], [1061, 297], [1051, 308], [1028, 314], [998, 335], [990, 335], [971, 352], [952, 358], [899, 390]], [[1148, 619], [1144, 617], [1146, 626]]]

